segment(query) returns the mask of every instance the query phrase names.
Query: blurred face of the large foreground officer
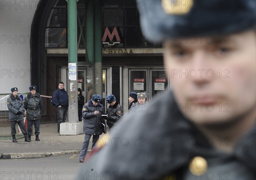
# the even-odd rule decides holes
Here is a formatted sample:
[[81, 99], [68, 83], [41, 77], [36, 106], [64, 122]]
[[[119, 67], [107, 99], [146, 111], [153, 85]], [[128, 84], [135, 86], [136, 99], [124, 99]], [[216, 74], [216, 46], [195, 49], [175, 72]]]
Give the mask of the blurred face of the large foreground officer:
[[196, 40], [164, 44], [166, 73], [180, 110], [199, 124], [255, 120], [256, 33]]

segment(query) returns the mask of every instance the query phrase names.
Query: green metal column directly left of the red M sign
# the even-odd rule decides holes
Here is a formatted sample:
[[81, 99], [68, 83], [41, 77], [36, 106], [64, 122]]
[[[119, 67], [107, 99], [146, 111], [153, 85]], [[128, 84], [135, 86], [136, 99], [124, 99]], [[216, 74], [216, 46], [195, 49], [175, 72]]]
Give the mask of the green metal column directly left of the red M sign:
[[102, 96], [102, 0], [95, 0], [95, 90]]

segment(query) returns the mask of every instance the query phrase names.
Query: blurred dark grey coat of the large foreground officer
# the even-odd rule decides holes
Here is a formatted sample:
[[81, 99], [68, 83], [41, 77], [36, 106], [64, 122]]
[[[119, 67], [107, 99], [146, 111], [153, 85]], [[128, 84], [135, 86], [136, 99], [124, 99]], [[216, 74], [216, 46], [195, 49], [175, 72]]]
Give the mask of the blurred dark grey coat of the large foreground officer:
[[[112, 131], [110, 139], [118, 138], [116, 143], [96, 152], [78, 179], [256, 179], [255, 126], [226, 154], [180, 113], [170, 92], [150, 103], [145, 113], [131, 113], [127, 119]], [[198, 156], [208, 166], [196, 177], [189, 164]]]

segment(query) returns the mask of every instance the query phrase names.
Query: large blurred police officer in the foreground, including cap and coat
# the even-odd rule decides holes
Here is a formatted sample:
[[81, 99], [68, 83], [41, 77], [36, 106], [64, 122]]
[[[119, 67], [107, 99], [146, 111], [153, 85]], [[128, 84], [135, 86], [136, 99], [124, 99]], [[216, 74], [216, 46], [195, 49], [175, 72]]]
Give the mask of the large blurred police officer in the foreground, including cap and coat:
[[110, 139], [129, 143], [103, 146], [79, 179], [256, 179], [256, 1], [137, 4], [172, 92], [117, 124]]

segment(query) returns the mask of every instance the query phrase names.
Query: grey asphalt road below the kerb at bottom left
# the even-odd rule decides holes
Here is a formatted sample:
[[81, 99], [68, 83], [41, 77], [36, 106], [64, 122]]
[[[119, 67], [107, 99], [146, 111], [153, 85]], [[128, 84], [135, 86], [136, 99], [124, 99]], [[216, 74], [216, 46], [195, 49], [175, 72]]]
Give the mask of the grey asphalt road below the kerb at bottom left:
[[0, 180], [76, 180], [79, 154], [0, 160]]

